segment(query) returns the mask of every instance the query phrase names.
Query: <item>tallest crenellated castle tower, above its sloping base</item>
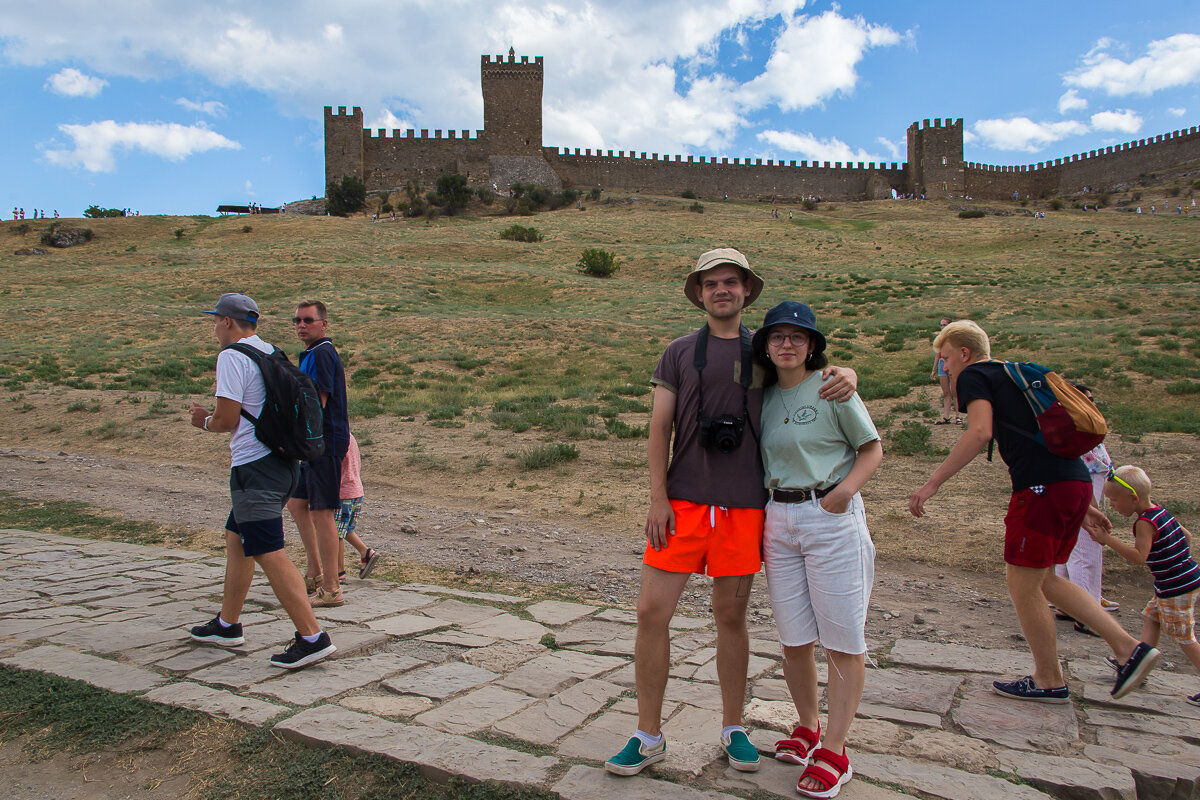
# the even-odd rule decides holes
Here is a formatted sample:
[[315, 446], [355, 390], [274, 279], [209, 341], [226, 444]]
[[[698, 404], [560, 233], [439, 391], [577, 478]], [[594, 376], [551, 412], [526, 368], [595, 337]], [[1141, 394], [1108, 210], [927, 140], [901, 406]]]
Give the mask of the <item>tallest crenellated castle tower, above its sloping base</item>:
[[480, 56], [484, 139], [492, 155], [541, 155], [541, 56]]

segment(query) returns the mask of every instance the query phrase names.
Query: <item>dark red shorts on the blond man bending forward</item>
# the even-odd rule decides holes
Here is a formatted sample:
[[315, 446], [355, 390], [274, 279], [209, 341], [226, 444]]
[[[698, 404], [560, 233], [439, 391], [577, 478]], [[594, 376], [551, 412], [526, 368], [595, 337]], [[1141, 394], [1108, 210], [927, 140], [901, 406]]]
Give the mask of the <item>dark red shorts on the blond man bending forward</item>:
[[1004, 515], [1004, 564], [1034, 570], [1066, 564], [1091, 501], [1091, 481], [1013, 492]]

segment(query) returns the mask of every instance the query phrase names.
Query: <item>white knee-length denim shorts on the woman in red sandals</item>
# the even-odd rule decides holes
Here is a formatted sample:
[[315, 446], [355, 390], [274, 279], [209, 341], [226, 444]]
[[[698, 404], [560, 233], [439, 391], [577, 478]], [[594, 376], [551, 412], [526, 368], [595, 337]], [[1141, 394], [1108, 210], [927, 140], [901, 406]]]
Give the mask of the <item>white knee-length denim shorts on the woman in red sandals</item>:
[[827, 650], [866, 652], [875, 545], [860, 495], [845, 513], [829, 513], [815, 498], [772, 500], [762, 549], [781, 644], [800, 646], [820, 639]]

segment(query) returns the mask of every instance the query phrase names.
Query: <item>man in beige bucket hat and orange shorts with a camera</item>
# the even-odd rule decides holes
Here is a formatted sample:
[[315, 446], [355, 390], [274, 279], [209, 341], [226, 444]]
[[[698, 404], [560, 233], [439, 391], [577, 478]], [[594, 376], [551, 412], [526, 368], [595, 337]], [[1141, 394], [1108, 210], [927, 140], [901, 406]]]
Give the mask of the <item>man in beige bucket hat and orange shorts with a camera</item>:
[[[654, 369], [650, 509], [635, 650], [638, 722], [624, 750], [605, 763], [614, 775], [636, 775], [666, 757], [661, 723], [670, 622], [692, 573], [713, 578], [721, 746], [734, 769], [758, 769], [758, 753], [742, 727], [742, 706], [750, 655], [745, 615], [762, 566], [767, 493], [757, 441], [762, 373], [754, 367], [742, 309], [762, 288], [739, 251], [720, 247], [702, 254], [684, 295], [704, 311], [706, 324], [667, 345]], [[830, 367], [826, 378], [823, 397], [853, 396], [858, 377], [852, 369]]]

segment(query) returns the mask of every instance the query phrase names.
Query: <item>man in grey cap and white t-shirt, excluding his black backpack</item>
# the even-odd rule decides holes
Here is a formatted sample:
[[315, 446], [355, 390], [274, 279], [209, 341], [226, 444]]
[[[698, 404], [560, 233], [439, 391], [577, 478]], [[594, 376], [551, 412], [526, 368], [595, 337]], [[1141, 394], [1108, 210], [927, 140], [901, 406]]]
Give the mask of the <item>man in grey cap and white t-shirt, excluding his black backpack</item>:
[[258, 440], [254, 420], [268, 399], [263, 372], [256, 360], [233, 345], [251, 347], [264, 355], [275, 348], [258, 337], [258, 305], [244, 294], [223, 294], [212, 311], [214, 331], [221, 343], [217, 355], [217, 405], [209, 411], [192, 403], [191, 422], [202, 431], [232, 432], [229, 495], [226, 522], [226, 576], [221, 613], [192, 628], [197, 642], [238, 646], [242, 636], [241, 608], [254, 577], [263, 567], [271, 590], [295, 625], [295, 640], [271, 656], [275, 667], [296, 669], [325, 658], [336, 648], [320, 630], [304, 590], [300, 571], [283, 551], [283, 506], [299, 476], [299, 465]]

